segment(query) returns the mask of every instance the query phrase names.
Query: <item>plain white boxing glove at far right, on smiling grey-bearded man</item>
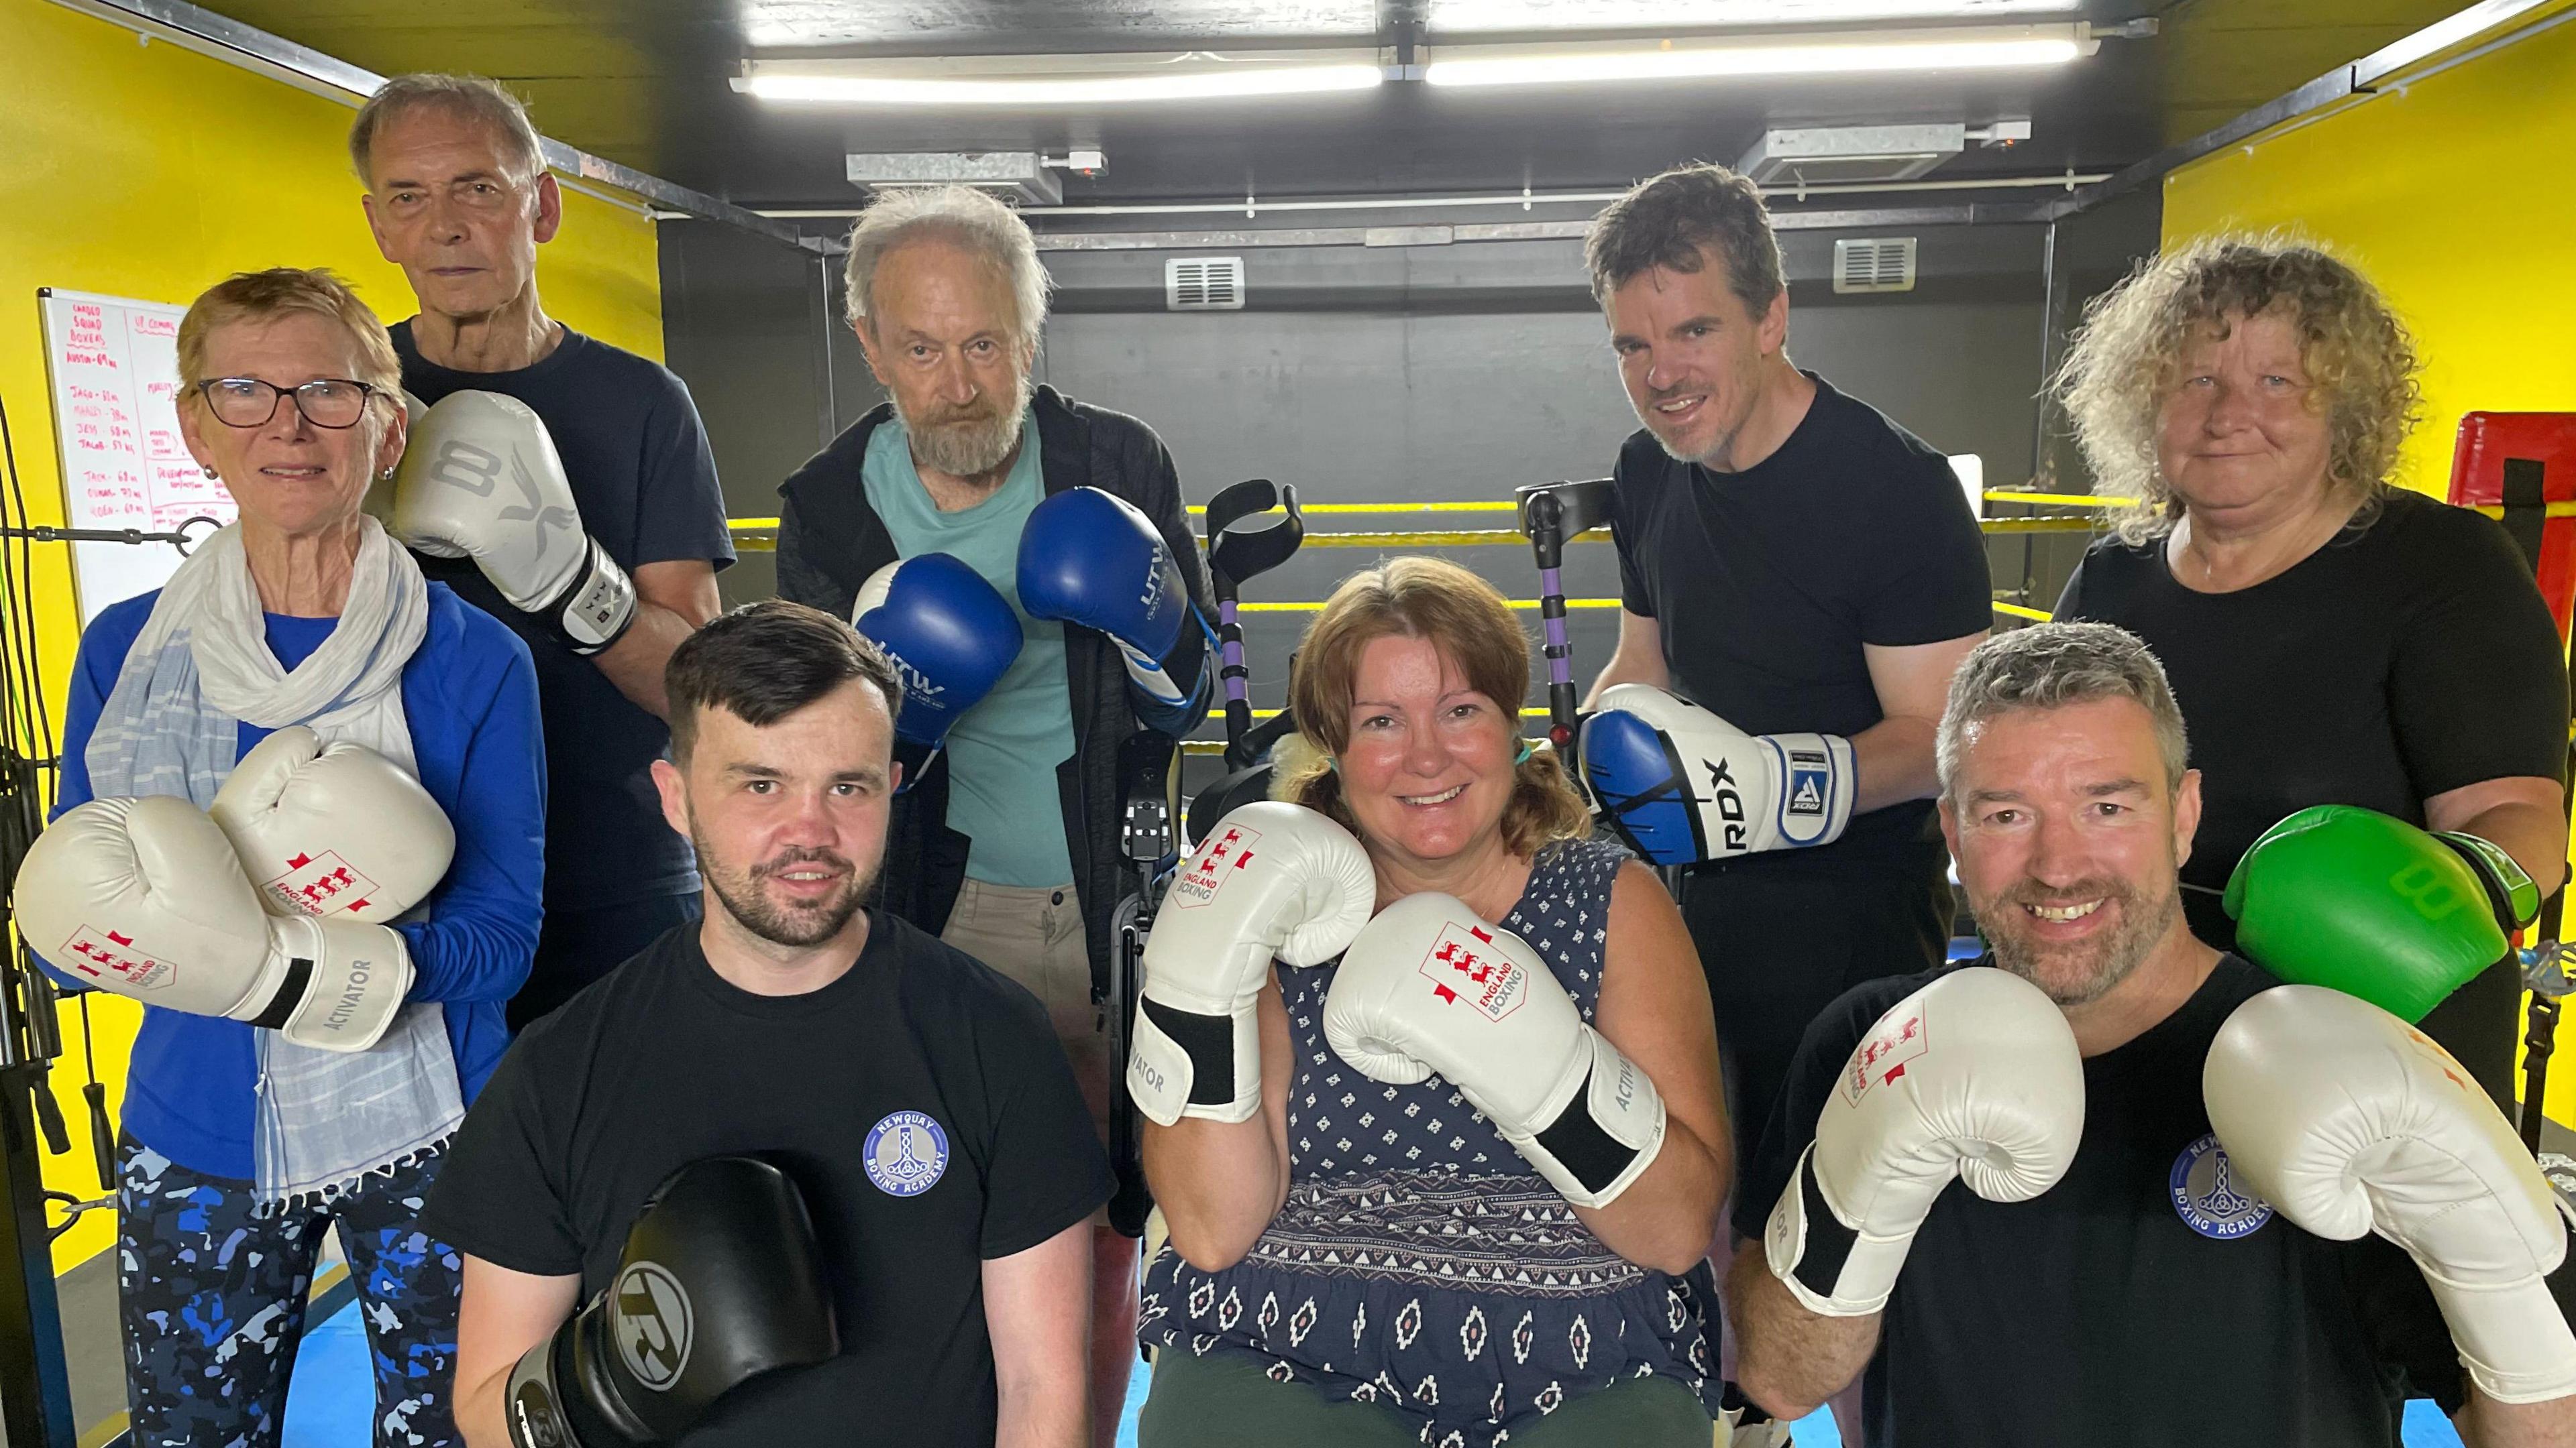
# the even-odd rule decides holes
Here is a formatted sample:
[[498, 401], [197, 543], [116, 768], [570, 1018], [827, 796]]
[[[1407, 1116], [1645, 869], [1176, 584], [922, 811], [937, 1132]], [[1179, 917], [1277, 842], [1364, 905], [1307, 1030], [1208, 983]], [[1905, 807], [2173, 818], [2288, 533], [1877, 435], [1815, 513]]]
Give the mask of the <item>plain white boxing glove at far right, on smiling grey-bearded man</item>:
[[2563, 1208], [2450, 1051], [2360, 997], [2285, 984], [2218, 1028], [2200, 1095], [2239, 1180], [2282, 1216], [2414, 1257], [2481, 1394], [2576, 1394], [2576, 1335], [2543, 1281], [2566, 1260]]

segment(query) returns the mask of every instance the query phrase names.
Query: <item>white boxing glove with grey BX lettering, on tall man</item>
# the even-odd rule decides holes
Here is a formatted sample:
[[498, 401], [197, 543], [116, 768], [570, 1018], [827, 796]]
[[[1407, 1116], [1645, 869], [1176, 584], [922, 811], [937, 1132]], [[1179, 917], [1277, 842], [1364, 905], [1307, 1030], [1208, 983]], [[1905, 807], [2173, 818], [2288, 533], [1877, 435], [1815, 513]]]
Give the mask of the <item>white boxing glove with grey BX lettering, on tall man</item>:
[[474, 559], [513, 608], [574, 654], [608, 649], [634, 624], [636, 585], [582, 531], [554, 435], [515, 397], [451, 392], [412, 420], [394, 472], [394, 536]]

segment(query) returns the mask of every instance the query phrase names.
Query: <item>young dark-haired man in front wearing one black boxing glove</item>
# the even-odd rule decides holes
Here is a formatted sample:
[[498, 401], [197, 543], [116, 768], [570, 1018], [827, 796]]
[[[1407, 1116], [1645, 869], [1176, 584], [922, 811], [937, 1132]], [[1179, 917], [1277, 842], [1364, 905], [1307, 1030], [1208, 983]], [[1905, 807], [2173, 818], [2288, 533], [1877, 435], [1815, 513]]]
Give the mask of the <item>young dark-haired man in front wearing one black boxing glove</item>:
[[459, 1422], [513, 1443], [513, 1363], [618, 1278], [654, 1188], [752, 1154], [814, 1219], [840, 1355], [732, 1389], [680, 1443], [1074, 1448], [1108, 1157], [1036, 997], [860, 907], [891, 665], [827, 613], [752, 603], [672, 654], [670, 698], [654, 776], [706, 917], [528, 1028], [448, 1152], [425, 1221], [466, 1255]]

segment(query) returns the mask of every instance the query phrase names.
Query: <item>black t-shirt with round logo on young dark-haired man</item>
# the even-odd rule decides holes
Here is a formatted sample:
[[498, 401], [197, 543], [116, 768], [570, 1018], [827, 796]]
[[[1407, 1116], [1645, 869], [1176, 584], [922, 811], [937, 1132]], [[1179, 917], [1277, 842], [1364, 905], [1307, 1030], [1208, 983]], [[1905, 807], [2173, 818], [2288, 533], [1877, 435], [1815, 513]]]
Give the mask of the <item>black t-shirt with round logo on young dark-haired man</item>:
[[[783, 1167], [822, 1237], [840, 1358], [726, 1396], [685, 1448], [992, 1448], [981, 1262], [1110, 1196], [1038, 1000], [894, 915], [868, 920], [858, 964], [796, 997], [726, 984], [698, 925], [672, 930], [510, 1046], [422, 1214], [487, 1262], [580, 1273], [590, 1301], [672, 1170], [721, 1154]], [[871, 1159], [904, 1113], [945, 1144], [927, 1188]]]

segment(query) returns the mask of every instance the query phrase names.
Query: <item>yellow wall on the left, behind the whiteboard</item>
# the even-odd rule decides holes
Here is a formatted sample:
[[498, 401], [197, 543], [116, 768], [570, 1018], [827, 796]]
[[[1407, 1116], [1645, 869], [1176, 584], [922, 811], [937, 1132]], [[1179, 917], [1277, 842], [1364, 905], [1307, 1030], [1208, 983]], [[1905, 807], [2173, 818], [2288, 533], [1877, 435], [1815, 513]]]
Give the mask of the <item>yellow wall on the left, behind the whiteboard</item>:
[[[49, 5], [0, 0], [0, 405], [36, 523], [62, 520], [54, 415], [36, 289], [188, 301], [234, 271], [330, 265], [386, 322], [412, 312], [402, 273], [376, 255], [348, 170], [350, 106]], [[582, 332], [662, 356], [652, 222], [564, 196], [564, 232], [541, 255], [546, 309]], [[36, 546], [36, 611], [54, 719], [77, 644], [67, 549]], [[98, 997], [98, 1074], [116, 1103], [139, 1010]], [[75, 1152], [46, 1185], [98, 1196], [82, 1126], [80, 1013], [64, 1007], [57, 1095]], [[54, 1244], [57, 1268], [113, 1239], [90, 1214]]]

